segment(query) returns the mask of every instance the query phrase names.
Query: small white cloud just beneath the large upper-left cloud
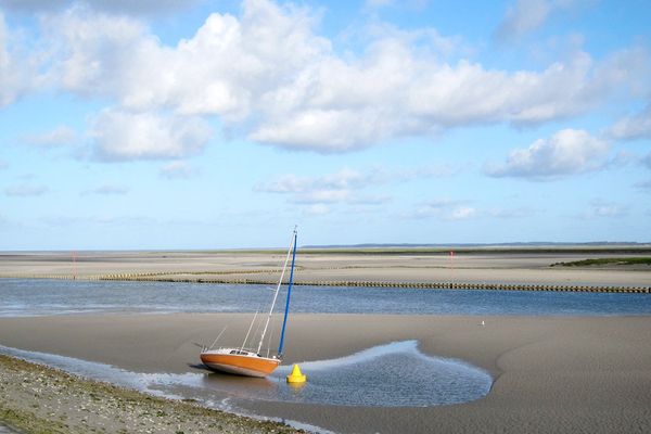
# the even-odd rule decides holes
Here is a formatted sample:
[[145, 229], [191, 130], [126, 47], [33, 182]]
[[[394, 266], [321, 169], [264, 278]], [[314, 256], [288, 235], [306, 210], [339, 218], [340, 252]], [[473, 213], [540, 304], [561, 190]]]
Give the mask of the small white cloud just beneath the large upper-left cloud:
[[180, 158], [202, 151], [210, 136], [197, 117], [116, 110], [102, 112], [91, 131], [93, 153], [103, 161]]

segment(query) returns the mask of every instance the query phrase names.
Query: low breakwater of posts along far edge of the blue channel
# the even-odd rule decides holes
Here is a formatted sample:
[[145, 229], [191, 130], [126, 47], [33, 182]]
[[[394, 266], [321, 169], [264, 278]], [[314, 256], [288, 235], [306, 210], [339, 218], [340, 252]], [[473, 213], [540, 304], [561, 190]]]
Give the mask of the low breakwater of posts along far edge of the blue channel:
[[[132, 272], [93, 276], [75, 275], [3, 275], [0, 278], [13, 279], [62, 279], [62, 280], [114, 280], [114, 281], [155, 281], [188, 283], [226, 284], [276, 284], [276, 279], [252, 279], [238, 275], [273, 273], [275, 270], [246, 271], [176, 271], [176, 272]], [[600, 292], [649, 294], [651, 286], [582, 285], [582, 284], [538, 284], [538, 283], [495, 283], [495, 282], [391, 282], [369, 280], [296, 280], [295, 285], [309, 286], [352, 286], [352, 288], [409, 288], [423, 290], [500, 290], [500, 291], [549, 291], [549, 292]]]

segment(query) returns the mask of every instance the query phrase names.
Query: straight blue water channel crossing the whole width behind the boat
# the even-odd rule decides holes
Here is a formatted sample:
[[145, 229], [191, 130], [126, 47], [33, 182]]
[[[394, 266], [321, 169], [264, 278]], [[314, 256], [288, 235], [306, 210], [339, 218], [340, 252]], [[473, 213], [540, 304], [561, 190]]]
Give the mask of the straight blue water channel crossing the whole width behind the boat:
[[[253, 312], [268, 285], [0, 279], [0, 317], [106, 312]], [[283, 295], [284, 296], [284, 295]], [[279, 306], [284, 306], [280, 301]], [[295, 286], [292, 311], [604, 316], [650, 315], [649, 294]]]

